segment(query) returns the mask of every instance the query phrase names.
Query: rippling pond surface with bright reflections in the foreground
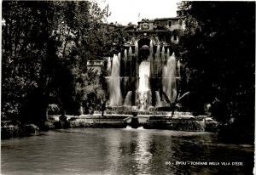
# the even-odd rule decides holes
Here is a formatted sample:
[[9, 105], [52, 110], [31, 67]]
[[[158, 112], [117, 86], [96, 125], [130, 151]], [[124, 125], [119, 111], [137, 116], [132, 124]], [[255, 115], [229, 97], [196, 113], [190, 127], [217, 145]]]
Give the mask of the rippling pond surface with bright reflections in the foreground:
[[1, 167], [15, 175], [252, 174], [253, 151], [215, 133], [72, 128], [2, 140]]

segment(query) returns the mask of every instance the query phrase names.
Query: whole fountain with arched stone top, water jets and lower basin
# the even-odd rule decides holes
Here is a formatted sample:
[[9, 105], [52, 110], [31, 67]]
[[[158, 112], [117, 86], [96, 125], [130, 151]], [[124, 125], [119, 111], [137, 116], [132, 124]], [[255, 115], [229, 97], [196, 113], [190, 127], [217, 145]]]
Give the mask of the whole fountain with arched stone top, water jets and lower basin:
[[147, 26], [125, 28], [129, 37], [123, 39], [129, 41], [118, 47], [119, 54], [106, 60], [107, 110], [102, 118], [84, 117], [98, 124], [106, 121], [104, 126], [113, 122], [110, 127], [128, 123], [131, 127], [203, 131], [206, 116], [194, 110], [201, 105], [196, 93], [193, 98], [193, 93], [184, 92], [182, 59], [173, 52], [170, 32], [163, 35], [163, 26]]

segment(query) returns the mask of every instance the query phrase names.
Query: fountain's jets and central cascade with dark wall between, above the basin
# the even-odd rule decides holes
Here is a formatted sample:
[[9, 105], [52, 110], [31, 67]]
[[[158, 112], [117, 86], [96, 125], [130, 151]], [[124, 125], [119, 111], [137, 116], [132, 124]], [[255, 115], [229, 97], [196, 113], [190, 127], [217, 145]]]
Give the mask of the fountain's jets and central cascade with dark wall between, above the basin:
[[[176, 61], [174, 53], [170, 56], [170, 48], [159, 44], [155, 48], [154, 53], [152, 40], [148, 45], [139, 45], [136, 41], [134, 53], [131, 46], [125, 48], [122, 58], [125, 76], [120, 76], [121, 54], [113, 55], [112, 66], [109, 64], [111, 59], [108, 58], [108, 69], [111, 67], [111, 76], [108, 77], [110, 95], [108, 107], [114, 109], [114, 113], [131, 113], [134, 110], [145, 113], [159, 111], [162, 108], [171, 111], [171, 104], [177, 98], [176, 82], [179, 75], [177, 68], [180, 69], [180, 63]], [[121, 89], [126, 87], [128, 91], [121, 92]], [[125, 94], [124, 101], [122, 93]]]

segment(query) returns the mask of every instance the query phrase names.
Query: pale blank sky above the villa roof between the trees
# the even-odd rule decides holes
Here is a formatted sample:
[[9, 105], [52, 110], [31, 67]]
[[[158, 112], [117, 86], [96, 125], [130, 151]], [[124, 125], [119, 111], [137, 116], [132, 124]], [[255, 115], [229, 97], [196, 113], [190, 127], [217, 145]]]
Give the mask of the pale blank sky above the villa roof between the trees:
[[101, 6], [109, 5], [108, 22], [137, 25], [138, 20], [175, 17], [178, 0], [100, 0]]

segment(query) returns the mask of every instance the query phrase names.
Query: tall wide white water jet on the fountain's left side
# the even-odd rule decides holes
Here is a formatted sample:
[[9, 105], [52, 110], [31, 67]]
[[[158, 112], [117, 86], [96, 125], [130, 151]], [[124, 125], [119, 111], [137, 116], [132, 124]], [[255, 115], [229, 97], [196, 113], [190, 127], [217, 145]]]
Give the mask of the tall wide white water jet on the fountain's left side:
[[109, 106], [122, 105], [122, 93], [120, 90], [120, 59], [113, 55], [112, 71], [109, 80]]

